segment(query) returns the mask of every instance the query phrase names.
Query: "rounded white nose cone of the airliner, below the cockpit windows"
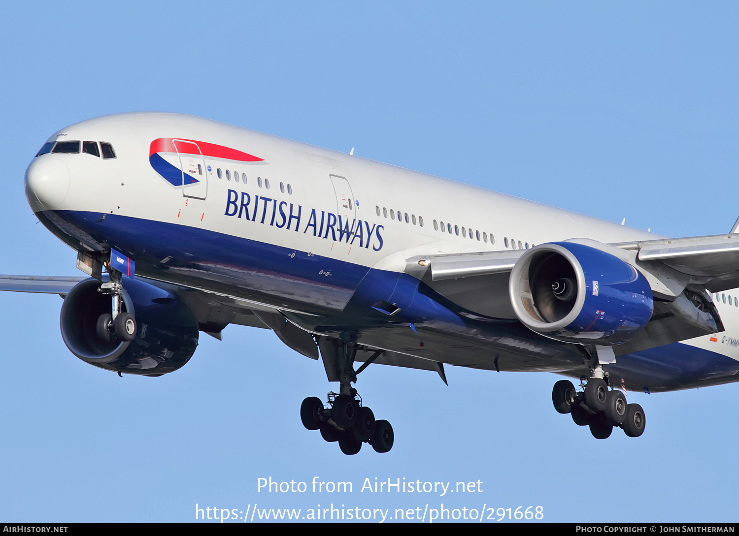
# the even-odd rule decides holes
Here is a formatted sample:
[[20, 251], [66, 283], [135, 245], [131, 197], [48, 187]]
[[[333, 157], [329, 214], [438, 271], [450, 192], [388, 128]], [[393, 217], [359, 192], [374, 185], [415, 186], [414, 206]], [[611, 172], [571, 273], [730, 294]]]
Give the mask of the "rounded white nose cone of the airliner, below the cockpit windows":
[[26, 197], [34, 210], [53, 210], [67, 199], [69, 168], [50, 154], [37, 157], [26, 170]]

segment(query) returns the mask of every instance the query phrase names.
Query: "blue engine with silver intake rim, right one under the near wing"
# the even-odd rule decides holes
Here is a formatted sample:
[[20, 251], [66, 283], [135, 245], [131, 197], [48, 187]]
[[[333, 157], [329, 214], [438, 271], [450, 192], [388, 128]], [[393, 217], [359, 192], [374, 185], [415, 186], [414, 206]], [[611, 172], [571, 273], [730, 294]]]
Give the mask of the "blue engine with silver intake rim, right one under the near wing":
[[616, 345], [647, 325], [652, 289], [635, 267], [571, 242], [539, 244], [511, 272], [511, 303], [529, 329], [568, 343]]

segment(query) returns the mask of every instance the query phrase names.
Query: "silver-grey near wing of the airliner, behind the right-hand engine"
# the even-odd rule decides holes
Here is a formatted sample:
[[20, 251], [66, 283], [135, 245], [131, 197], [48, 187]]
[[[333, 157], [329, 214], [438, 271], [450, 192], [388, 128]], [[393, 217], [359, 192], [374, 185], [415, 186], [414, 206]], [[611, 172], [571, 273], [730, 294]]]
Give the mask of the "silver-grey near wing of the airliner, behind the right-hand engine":
[[[653, 316], [646, 328], [616, 354], [723, 331], [715, 306], [702, 290], [739, 287], [739, 233], [603, 244], [571, 238], [610, 252], [637, 267], [652, 286]], [[508, 279], [526, 250], [416, 255], [406, 272], [472, 314], [515, 319]], [[698, 303], [698, 305], [696, 305]]]

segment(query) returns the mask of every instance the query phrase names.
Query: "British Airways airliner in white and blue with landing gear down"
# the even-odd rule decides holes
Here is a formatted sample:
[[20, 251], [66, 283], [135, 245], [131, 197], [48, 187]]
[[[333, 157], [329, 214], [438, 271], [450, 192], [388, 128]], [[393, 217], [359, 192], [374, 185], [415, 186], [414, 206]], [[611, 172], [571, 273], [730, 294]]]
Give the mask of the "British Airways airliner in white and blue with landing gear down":
[[445, 365], [571, 377], [554, 408], [599, 439], [644, 432], [626, 390], [739, 380], [739, 222], [667, 238], [154, 112], [62, 128], [25, 187], [86, 276], [0, 275], [0, 289], [61, 295], [72, 354], [157, 377], [188, 362], [201, 331], [272, 329], [338, 382], [300, 416], [346, 454], [392, 448], [353, 386], [372, 363], [444, 382]]

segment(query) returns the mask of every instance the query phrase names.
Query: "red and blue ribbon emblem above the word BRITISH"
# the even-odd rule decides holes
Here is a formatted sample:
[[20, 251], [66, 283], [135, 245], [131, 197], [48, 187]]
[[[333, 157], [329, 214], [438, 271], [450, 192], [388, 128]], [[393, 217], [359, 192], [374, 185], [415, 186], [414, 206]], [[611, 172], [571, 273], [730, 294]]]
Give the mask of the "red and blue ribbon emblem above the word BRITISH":
[[183, 173], [180, 168], [167, 162], [162, 154], [203, 159], [203, 163], [205, 163], [205, 158], [228, 160], [236, 164], [264, 162], [264, 159], [255, 157], [253, 154], [225, 147], [225, 145], [185, 138], [157, 138], [149, 145], [149, 164], [154, 171], [174, 186], [189, 185], [200, 181], [195, 176]]

